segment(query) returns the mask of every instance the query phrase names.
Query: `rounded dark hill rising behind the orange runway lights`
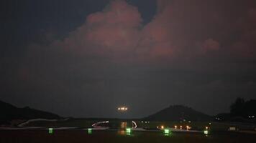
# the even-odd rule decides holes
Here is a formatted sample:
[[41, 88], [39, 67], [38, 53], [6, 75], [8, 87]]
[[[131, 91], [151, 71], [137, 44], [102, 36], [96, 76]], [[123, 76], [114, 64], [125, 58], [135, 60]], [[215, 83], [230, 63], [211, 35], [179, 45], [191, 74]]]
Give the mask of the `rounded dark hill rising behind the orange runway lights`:
[[151, 121], [211, 121], [213, 117], [183, 105], [171, 105], [144, 119]]

